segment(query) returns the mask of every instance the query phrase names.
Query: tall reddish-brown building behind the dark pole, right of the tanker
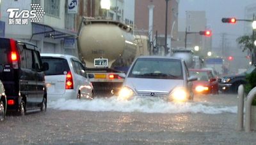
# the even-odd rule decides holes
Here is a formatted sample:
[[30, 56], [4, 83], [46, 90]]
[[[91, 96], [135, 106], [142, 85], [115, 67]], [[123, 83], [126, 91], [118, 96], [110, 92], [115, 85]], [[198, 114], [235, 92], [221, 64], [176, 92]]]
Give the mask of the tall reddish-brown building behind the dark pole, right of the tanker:
[[[167, 47], [177, 40], [179, 1], [168, 1]], [[165, 43], [166, 1], [140, 0], [135, 1], [135, 30], [149, 36], [154, 45], [163, 50]], [[157, 38], [157, 41], [156, 41]], [[172, 38], [172, 41], [171, 41]]]

